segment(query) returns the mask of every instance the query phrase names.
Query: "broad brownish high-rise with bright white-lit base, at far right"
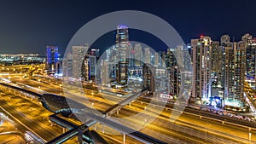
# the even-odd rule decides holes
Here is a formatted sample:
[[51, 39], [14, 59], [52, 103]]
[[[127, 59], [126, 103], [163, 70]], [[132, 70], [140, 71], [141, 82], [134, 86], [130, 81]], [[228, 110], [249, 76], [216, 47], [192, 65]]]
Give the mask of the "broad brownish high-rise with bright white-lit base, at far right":
[[244, 107], [244, 78], [246, 72], [246, 43], [226, 43], [224, 100], [229, 107]]

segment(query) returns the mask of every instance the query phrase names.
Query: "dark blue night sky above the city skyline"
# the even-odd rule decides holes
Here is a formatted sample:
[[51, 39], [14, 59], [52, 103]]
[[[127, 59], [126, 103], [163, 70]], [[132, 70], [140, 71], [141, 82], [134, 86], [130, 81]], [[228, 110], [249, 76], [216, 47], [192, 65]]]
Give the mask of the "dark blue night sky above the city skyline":
[[[58, 46], [63, 54], [81, 26], [117, 10], [155, 14], [172, 25], [185, 43], [201, 34], [213, 40], [229, 34], [236, 41], [247, 32], [256, 36], [254, 0], [1, 0], [0, 54], [44, 55], [46, 45]], [[142, 32], [133, 36], [132, 33], [131, 40], [147, 43], [148, 37], [154, 39], [143, 37]], [[114, 32], [109, 32], [93, 46], [103, 49], [114, 40]], [[154, 49], [165, 49], [157, 39], [147, 44]]]

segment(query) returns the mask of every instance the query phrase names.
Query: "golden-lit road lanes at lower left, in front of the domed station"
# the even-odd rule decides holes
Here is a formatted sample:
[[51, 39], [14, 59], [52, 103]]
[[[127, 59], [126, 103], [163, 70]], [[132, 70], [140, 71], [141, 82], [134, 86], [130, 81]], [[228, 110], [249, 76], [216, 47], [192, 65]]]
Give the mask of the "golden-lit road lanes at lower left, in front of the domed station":
[[48, 121], [48, 116], [53, 113], [47, 111], [44, 107], [39, 107], [36, 101], [32, 102], [20, 96], [2, 93], [0, 106], [2, 110], [8, 110], [9, 118], [19, 120], [16, 122], [16, 128], [23, 134], [26, 131], [32, 131], [45, 141], [49, 141], [62, 133], [60, 127], [51, 126]]

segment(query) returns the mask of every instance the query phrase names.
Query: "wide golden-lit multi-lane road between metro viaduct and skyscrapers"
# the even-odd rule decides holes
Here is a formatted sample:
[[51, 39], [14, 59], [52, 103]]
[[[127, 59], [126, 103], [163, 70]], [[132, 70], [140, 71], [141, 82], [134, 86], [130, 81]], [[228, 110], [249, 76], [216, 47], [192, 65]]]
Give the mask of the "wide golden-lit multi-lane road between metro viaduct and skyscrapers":
[[[61, 86], [56, 84], [44, 84], [42, 82], [35, 82], [32, 80], [27, 80], [23, 78], [12, 78], [14, 82], [27, 84], [38, 89], [43, 89], [49, 93], [60, 94], [62, 93]], [[78, 93], [75, 90], [68, 90], [69, 93], [73, 95], [71, 98], [79, 101], [83, 100], [85, 95]], [[98, 110], [104, 111], [109, 107], [112, 107], [113, 101], [108, 101], [99, 95], [93, 95], [93, 91], [86, 90], [87, 97], [90, 98], [90, 107], [95, 107]], [[90, 94], [90, 95], [89, 95]], [[72, 97], [73, 96], [73, 97]], [[104, 95], [106, 97], [108, 95]], [[88, 103], [87, 103], [88, 104]], [[153, 123], [148, 124], [144, 119], [132, 119], [131, 115], [135, 115], [138, 112], [142, 112], [143, 109], [147, 107], [148, 112], [145, 113], [145, 117], [157, 117]], [[199, 116], [183, 112], [179, 118], [174, 123], [170, 122], [170, 113], [173, 110], [171, 108], [164, 109], [160, 116], [156, 116], [154, 113], [154, 107], [150, 107], [147, 103], [142, 103], [135, 101], [131, 104], [131, 107], [124, 107], [119, 112], [119, 115], [115, 114], [116, 117], [125, 117], [125, 122], [131, 127], [136, 127], [137, 124], [145, 124], [144, 128], [141, 130], [147, 135], [152, 135], [160, 140], [168, 142], [173, 142], [173, 140], [179, 143], [187, 143], [188, 141], [194, 143], [247, 143], [249, 141], [249, 133], [246, 127], [240, 127], [232, 124], [222, 124], [221, 122], [215, 121], [211, 118], [200, 118]], [[255, 130], [251, 130], [252, 141], [256, 141]]]

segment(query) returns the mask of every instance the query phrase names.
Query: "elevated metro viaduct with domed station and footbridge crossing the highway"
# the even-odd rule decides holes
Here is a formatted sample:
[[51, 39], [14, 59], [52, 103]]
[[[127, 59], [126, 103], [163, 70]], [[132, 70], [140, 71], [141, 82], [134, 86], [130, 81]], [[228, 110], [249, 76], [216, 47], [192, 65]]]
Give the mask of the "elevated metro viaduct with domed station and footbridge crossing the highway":
[[[1, 83], [1, 84], [3, 84], [3, 83]], [[96, 124], [96, 122], [100, 122], [101, 124], [108, 125], [108, 126], [110, 126], [111, 128], [113, 128], [115, 130], [119, 130], [121, 133], [123, 133], [125, 135], [130, 135], [131, 137], [137, 139], [138, 141], [143, 141], [145, 143], [164, 143], [162, 141], [154, 139], [153, 137], [150, 137], [148, 135], [144, 135], [141, 132], [133, 132], [131, 134], [128, 134], [129, 132], [134, 131], [134, 130], [132, 130], [131, 128], [126, 127], [125, 125], [118, 124], [118, 123], [115, 123], [115, 122], [107, 119], [107, 117], [110, 114], [112, 114], [113, 112], [118, 111], [122, 107], [125, 107], [125, 105], [129, 104], [131, 101], [136, 100], [137, 97], [139, 97], [141, 94], [131, 95], [131, 96], [125, 98], [125, 100], [120, 101], [118, 104], [114, 105], [113, 107], [110, 107], [107, 111], [102, 112], [103, 113], [102, 114], [101, 112], [98, 112], [94, 109], [91, 109], [90, 107], [84, 107], [82, 104], [80, 104], [77, 101], [72, 101], [71, 103], [70, 102], [67, 103], [67, 101], [66, 101], [67, 98], [64, 97], [64, 96], [61, 96], [61, 95], [51, 95], [51, 94], [43, 94], [42, 95], [42, 94], [38, 94], [36, 92], [33, 92], [31, 90], [28, 90], [28, 89], [22, 89], [18, 86], [15, 86], [15, 85], [10, 85], [10, 84], [3, 84], [3, 85], [6, 86], [6, 87], [9, 87], [11, 89], [17, 89], [17, 90], [20, 90], [20, 91], [24, 91], [29, 95], [35, 95], [38, 98], [38, 101], [41, 101], [41, 103], [43, 104], [43, 107], [45, 107], [49, 111], [52, 111], [52, 112], [67, 112], [67, 113], [75, 112], [75, 113], [78, 113], [79, 115], [81, 115], [83, 117], [84, 116], [89, 117], [91, 120], [89, 121], [90, 123], [88, 123], [88, 124], [90, 124], [90, 125]], [[142, 94], [145, 94], [145, 93], [146, 93], [146, 91], [143, 91]], [[70, 107], [72, 107], [72, 108], [70, 108]], [[89, 110], [89, 112], [85, 112], [84, 109]], [[96, 115], [95, 113], [102, 114], [102, 115], [99, 116], [99, 115]], [[58, 120], [58, 118], [55, 118], [55, 117], [51, 117], [51, 118], [55, 119], [56, 122], [57, 121], [61, 122], [60, 119]], [[88, 126], [90, 126], [90, 125], [88, 125]], [[67, 126], [67, 125], [64, 125], [64, 126]], [[69, 129], [71, 129], [71, 127]], [[78, 130], [79, 129], [74, 130], [74, 131], [78, 131]], [[72, 129], [67, 131], [68, 135], [77, 135], [77, 133], [74, 132], [74, 131]], [[124, 141], [125, 141], [125, 135], [124, 135]], [[62, 139], [63, 141], [67, 140], [67, 137], [68, 137], [67, 134], [64, 133], [63, 135], [61, 135], [58, 138], [58, 141], [60, 139]], [[57, 141], [57, 140], [55, 140], [55, 141]]]

